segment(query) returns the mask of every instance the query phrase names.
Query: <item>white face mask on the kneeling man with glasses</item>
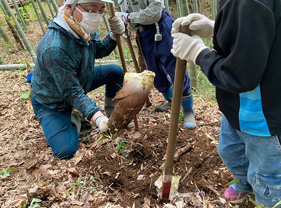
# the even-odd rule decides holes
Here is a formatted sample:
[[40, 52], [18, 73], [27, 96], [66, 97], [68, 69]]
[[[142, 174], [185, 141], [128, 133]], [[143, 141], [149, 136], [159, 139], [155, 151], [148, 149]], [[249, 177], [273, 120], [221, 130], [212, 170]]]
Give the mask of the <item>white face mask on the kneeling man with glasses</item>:
[[79, 25], [84, 30], [85, 33], [94, 33], [97, 31], [98, 27], [101, 24], [101, 15], [91, 15], [89, 12], [82, 12], [76, 7], [76, 9], [82, 14], [83, 18]]

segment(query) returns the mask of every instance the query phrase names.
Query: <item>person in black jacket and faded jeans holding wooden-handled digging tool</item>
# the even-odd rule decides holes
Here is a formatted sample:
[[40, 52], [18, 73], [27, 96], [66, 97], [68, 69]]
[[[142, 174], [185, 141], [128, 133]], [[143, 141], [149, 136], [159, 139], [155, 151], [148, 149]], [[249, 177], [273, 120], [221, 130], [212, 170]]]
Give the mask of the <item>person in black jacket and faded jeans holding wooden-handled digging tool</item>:
[[[189, 26], [191, 35], [180, 33]], [[213, 49], [201, 39], [213, 31]], [[239, 179], [224, 193], [242, 202], [281, 200], [281, 1], [220, 0], [215, 24], [201, 14], [173, 24], [171, 52], [200, 65], [222, 111], [218, 153]]]

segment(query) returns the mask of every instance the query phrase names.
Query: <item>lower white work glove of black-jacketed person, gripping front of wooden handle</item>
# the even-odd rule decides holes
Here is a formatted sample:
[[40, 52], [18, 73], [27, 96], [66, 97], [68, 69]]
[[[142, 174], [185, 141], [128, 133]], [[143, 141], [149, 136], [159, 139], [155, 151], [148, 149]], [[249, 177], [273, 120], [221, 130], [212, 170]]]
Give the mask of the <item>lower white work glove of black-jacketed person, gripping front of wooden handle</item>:
[[182, 60], [187, 60], [196, 63], [198, 55], [204, 50], [208, 49], [198, 35], [189, 36], [184, 33], [172, 34], [173, 48], [171, 52], [174, 56]]

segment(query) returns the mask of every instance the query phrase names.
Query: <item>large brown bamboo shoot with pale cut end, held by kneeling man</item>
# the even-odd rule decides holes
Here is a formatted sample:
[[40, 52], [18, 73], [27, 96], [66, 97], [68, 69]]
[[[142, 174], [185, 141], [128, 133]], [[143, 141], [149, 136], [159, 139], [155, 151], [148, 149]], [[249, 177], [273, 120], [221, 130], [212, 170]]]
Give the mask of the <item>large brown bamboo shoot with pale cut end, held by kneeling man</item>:
[[140, 112], [152, 88], [154, 77], [155, 73], [147, 70], [125, 74], [123, 87], [114, 98], [118, 100], [107, 123], [112, 134], [126, 128]]

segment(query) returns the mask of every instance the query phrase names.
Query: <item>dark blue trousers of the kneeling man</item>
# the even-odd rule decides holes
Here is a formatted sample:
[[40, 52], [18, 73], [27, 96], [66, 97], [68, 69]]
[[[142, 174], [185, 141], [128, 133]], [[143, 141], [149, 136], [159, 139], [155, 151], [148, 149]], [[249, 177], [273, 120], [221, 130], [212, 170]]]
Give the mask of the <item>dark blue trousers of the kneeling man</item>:
[[[124, 72], [115, 64], [99, 65], [94, 68], [94, 76], [90, 91], [105, 86], [105, 94], [114, 98], [123, 85]], [[54, 155], [59, 158], [70, 158], [78, 150], [79, 133], [71, 123], [71, 111], [49, 109], [31, 98], [34, 113], [41, 123], [45, 138]]]

